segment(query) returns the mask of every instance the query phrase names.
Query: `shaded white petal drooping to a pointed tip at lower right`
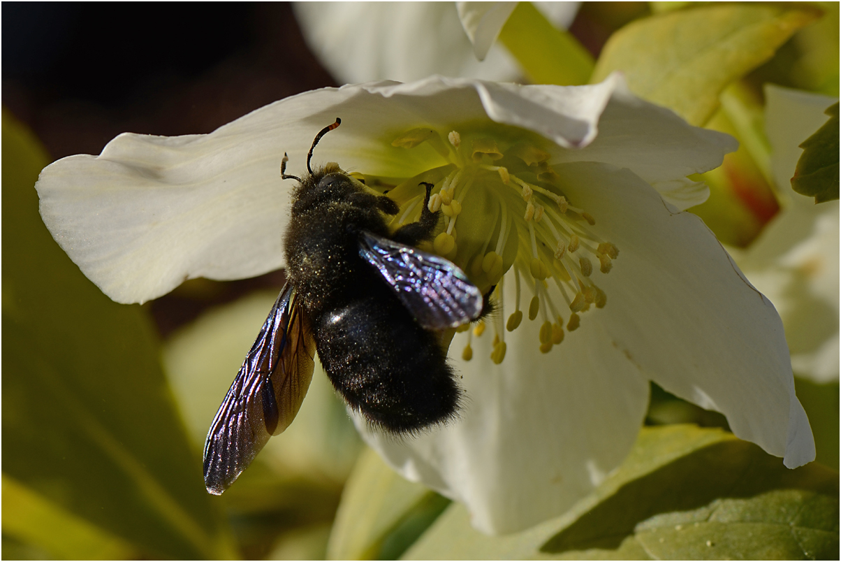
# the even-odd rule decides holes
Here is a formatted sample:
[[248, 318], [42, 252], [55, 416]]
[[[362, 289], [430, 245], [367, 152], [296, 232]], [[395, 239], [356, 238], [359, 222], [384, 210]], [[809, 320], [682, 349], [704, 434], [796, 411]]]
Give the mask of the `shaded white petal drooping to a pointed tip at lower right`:
[[[591, 319], [650, 379], [800, 466], [815, 457], [794, 391], [782, 323], [706, 225], [674, 213], [639, 178], [604, 164], [556, 167], [571, 200], [596, 217], [620, 256], [596, 280], [607, 305]], [[641, 289], [643, 288], [643, 289]]]

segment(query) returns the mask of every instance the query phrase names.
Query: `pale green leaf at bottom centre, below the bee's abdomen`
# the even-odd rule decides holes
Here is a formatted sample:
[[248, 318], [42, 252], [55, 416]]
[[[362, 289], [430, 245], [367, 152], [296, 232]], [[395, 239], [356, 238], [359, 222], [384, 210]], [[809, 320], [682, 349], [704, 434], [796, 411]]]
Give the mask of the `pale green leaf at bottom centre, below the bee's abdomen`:
[[450, 501], [404, 480], [366, 449], [347, 480], [328, 559], [396, 559], [426, 531]]

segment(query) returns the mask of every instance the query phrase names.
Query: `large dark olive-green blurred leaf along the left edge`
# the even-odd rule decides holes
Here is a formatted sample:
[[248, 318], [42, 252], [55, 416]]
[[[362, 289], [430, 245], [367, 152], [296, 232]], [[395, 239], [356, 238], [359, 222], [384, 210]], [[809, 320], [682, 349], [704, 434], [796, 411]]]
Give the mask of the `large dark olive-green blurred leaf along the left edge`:
[[145, 310], [108, 300], [40, 220], [47, 162], [4, 113], [3, 471], [141, 556], [230, 558]]

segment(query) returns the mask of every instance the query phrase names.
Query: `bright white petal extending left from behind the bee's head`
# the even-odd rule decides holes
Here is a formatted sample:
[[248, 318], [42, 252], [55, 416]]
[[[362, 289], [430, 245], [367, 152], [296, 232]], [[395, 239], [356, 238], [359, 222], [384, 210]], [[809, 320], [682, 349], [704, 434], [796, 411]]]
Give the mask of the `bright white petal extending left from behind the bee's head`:
[[303, 163], [314, 131], [335, 115], [309, 119], [358, 92], [287, 98], [210, 135], [119, 135], [100, 156], [69, 156], [41, 172], [41, 216], [82, 273], [121, 303], [188, 278], [280, 268], [291, 188], [278, 177], [283, 151]]

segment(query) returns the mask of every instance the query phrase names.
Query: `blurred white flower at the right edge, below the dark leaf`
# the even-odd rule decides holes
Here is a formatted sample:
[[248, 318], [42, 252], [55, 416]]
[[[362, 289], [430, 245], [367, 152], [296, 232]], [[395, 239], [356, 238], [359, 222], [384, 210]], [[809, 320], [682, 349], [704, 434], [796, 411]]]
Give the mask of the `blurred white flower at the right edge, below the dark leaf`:
[[765, 130], [780, 213], [733, 257], [751, 283], [774, 303], [785, 326], [791, 365], [816, 383], [838, 380], [838, 201], [791, 188], [803, 140], [828, 116], [838, 98], [785, 87], [765, 87]]

